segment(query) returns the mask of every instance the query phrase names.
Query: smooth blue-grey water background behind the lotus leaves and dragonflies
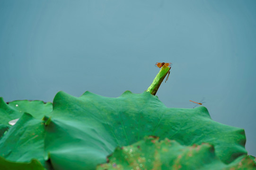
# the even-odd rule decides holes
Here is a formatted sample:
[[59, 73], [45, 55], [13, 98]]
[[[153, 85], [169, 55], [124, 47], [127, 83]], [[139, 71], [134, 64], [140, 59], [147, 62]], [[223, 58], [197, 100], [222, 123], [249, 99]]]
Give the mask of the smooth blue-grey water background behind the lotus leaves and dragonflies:
[[142, 93], [244, 128], [256, 156], [256, 0], [0, 0], [0, 96]]

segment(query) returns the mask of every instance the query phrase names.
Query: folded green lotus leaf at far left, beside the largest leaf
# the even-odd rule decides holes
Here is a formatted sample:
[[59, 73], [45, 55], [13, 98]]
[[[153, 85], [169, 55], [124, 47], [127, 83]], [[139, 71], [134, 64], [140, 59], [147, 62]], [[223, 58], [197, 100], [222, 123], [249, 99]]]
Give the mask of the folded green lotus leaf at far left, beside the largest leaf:
[[[35, 119], [29, 113], [24, 113], [1, 138], [0, 157], [10, 161], [7, 162], [8, 165], [11, 162], [17, 162], [18, 164], [14, 164], [14, 166], [18, 166], [19, 163], [26, 162], [24, 164], [26, 167], [32, 159], [37, 159], [43, 166], [47, 167], [47, 162], [44, 161], [44, 136], [44, 122]], [[32, 164], [34, 166], [37, 163]], [[5, 165], [0, 163], [0, 170]]]

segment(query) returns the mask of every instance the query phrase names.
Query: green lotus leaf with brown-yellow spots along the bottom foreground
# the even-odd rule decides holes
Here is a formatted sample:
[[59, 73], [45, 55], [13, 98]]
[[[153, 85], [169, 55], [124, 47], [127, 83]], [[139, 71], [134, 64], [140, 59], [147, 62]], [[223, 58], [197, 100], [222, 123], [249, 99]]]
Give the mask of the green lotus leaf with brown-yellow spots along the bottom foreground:
[[107, 160], [97, 170], [256, 170], [256, 164], [245, 155], [226, 165], [211, 144], [185, 146], [168, 138], [159, 141], [155, 136], [117, 147]]

